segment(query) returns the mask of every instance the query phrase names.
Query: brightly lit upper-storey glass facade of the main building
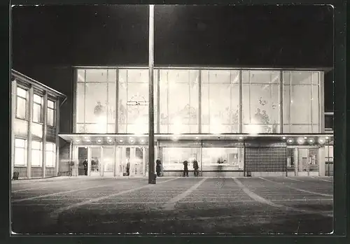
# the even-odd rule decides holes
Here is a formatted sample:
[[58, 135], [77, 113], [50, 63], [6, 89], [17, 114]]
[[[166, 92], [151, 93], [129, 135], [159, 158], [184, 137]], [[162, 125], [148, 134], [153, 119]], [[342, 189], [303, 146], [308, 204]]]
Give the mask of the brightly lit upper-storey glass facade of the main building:
[[[154, 73], [155, 133], [279, 134], [323, 129], [322, 71], [155, 69]], [[147, 134], [148, 69], [78, 69], [74, 132]]]

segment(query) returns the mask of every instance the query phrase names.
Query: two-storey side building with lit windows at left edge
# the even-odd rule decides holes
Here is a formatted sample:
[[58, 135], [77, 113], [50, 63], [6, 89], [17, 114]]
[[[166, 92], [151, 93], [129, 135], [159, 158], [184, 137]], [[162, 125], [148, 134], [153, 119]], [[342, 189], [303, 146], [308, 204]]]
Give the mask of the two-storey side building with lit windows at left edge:
[[57, 175], [59, 106], [66, 96], [11, 71], [11, 175]]

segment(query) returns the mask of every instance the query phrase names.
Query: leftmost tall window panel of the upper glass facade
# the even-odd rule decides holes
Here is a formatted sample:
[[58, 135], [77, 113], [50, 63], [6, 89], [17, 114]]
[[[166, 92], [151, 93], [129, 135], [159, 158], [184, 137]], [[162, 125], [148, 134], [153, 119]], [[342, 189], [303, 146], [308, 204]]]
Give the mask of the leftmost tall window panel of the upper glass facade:
[[76, 132], [116, 131], [116, 69], [78, 69]]

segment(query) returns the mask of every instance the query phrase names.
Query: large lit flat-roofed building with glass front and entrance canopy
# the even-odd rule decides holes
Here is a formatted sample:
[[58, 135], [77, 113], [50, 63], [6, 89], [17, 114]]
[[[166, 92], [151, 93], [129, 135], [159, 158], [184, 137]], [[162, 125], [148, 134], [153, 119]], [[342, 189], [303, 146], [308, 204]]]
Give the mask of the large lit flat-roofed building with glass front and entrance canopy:
[[[75, 67], [73, 131], [59, 171], [148, 175], [147, 67]], [[155, 158], [163, 175], [325, 175], [328, 69], [155, 67]]]

